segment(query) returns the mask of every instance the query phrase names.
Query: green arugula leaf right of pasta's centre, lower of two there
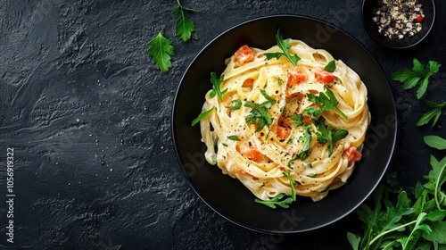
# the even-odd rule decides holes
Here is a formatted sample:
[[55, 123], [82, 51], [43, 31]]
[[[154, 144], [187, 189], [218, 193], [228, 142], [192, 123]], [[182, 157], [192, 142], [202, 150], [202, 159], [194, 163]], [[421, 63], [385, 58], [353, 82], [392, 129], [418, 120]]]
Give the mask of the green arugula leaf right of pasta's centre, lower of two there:
[[328, 156], [331, 156], [333, 153], [333, 148], [335, 147], [335, 143], [344, 137], [347, 137], [349, 131], [340, 128], [335, 129], [335, 127], [326, 127], [325, 124], [326, 119], [324, 117], [319, 117], [317, 121], [313, 120], [313, 123], [318, 128], [318, 143], [321, 145], [325, 145], [328, 143]]

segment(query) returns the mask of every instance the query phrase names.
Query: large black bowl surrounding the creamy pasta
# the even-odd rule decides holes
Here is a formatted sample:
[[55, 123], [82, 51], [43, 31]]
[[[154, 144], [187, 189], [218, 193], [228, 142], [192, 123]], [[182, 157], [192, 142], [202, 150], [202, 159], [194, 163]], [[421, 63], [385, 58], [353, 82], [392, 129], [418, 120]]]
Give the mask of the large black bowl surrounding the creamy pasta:
[[[225, 69], [225, 59], [243, 45], [269, 48], [277, 44], [277, 29], [284, 38], [301, 39], [325, 48], [351, 66], [368, 87], [372, 123], [361, 160], [347, 184], [313, 202], [298, 197], [288, 209], [271, 209], [254, 202], [255, 196], [237, 179], [224, 175], [204, 160], [206, 147], [200, 128], [191, 121], [202, 111], [211, 89], [210, 74]], [[172, 133], [181, 171], [194, 191], [229, 221], [267, 233], [296, 234], [320, 229], [353, 212], [375, 190], [389, 166], [396, 141], [396, 109], [384, 72], [359, 42], [323, 21], [295, 15], [277, 15], [246, 21], [228, 29], [205, 46], [181, 80], [172, 112]]]

